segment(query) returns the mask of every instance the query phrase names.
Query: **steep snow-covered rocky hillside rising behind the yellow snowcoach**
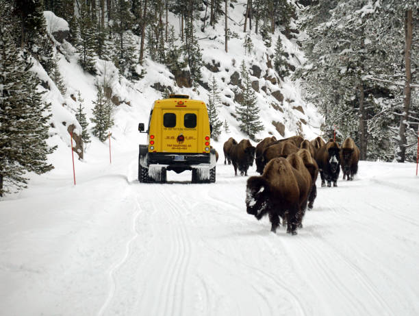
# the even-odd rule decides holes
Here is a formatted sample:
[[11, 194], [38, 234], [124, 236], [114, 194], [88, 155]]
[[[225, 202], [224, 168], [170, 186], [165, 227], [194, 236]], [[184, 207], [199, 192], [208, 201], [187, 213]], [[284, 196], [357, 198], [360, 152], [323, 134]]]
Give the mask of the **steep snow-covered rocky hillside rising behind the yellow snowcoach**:
[[[238, 1], [238, 3], [234, 3], [234, 8], [229, 8], [229, 29], [232, 33], [238, 34], [238, 38], [229, 40], [228, 53], [225, 53], [224, 48], [224, 24], [222, 21], [216, 25], [215, 29], [207, 26], [205, 33], [201, 32], [201, 21], [196, 22], [195, 27], [204, 64], [217, 65], [216, 70], [212, 69], [214, 72], [210, 71], [207, 66], [204, 66], [201, 71], [204, 84], [208, 84], [212, 77], [216, 78], [222, 102], [218, 108], [219, 119], [223, 122], [227, 121], [229, 124], [230, 131], [226, 133], [223, 130], [220, 135], [220, 143], [223, 143], [230, 136], [238, 140], [249, 138], [240, 132], [239, 122], [232, 115], [236, 113], [238, 103], [233, 101], [233, 89], [237, 86], [231, 83], [231, 76], [233, 73], [240, 73], [242, 60], [253, 75], [251, 77], [252, 81], [257, 82], [257, 86], [259, 86], [256, 95], [265, 129], [263, 132], [259, 132], [257, 137], [264, 138], [268, 134], [273, 134], [277, 138], [283, 138], [297, 133], [303, 134], [309, 139], [318, 136], [322, 117], [318, 114], [314, 105], [306, 104], [303, 101], [299, 82], [293, 82], [289, 77], [285, 77], [283, 81], [280, 80], [275, 75], [275, 71], [268, 66], [268, 64], [272, 64], [272, 61], [268, 62], [268, 60], [272, 59], [279, 31], [277, 30], [272, 35], [272, 46], [269, 48], [265, 47], [262, 36], [252, 33], [255, 48], [251, 54], [244, 54], [244, 36], [246, 35], [242, 32], [244, 6], [245, 1]], [[204, 12], [201, 13], [204, 14]], [[68, 29], [66, 21], [55, 16], [52, 12], [45, 12], [45, 18], [47, 19], [47, 30], [50, 34], [60, 30], [65, 32]], [[175, 26], [175, 33], [179, 34], [177, 16], [169, 14], [169, 22], [170, 25]], [[296, 44], [296, 39], [288, 40], [283, 34], [281, 34], [281, 39], [284, 51], [289, 54], [288, 63], [292, 66], [299, 66], [304, 61], [304, 56]], [[178, 42], [180, 45], [180, 40]], [[118, 104], [114, 107], [115, 125], [111, 130], [112, 143], [114, 143], [114, 150], [116, 151], [131, 150], [138, 146], [138, 143], [144, 142], [143, 136], [140, 136], [137, 132], [137, 126], [139, 122], [147, 123], [153, 101], [162, 98], [162, 93], [153, 88], [156, 84], [172, 88], [173, 93], [187, 94], [191, 98], [202, 99], [203, 101], [208, 100], [208, 91], [203, 86], [199, 86], [196, 90], [179, 88], [173, 74], [168, 71], [166, 66], [153, 62], [149, 58], [146, 58], [144, 62], [144, 70], [147, 72], [145, 77], [133, 83], [120, 76], [112, 62], [103, 60], [96, 61], [97, 75], [89, 75], [77, 64], [78, 54], [74, 47], [65, 40], [63, 43], [55, 41], [55, 45], [57, 46], [55, 53], [60, 58], [60, 73], [66, 86], [66, 93], [64, 95], [60, 94], [58, 88], [55, 87], [53, 81], [39, 64], [34, 66], [33, 69], [50, 87], [45, 93], [44, 99], [52, 104], [53, 117], [51, 119], [52, 127], [49, 143], [58, 145], [58, 150], [50, 157], [55, 166], [53, 173], [60, 173], [62, 168], [68, 168], [68, 162], [63, 157], [68, 156], [68, 150], [70, 149], [69, 125], [75, 125], [76, 133], [81, 130], [75, 119], [75, 111], [79, 104], [77, 100], [79, 93], [84, 99], [83, 106], [90, 122], [94, 106], [92, 102], [97, 97], [97, 87], [104, 84], [110, 86], [112, 99], [115, 104]], [[251, 66], [257, 66], [260, 73], [255, 74], [251, 70]], [[258, 77], [255, 77], [255, 75]], [[272, 80], [276, 84], [272, 84]], [[274, 95], [277, 97], [275, 98]], [[283, 98], [283, 101], [279, 101], [278, 98]], [[278, 132], [277, 127], [272, 125], [272, 122], [275, 122], [277, 127], [280, 125], [278, 128], [282, 134]], [[218, 145], [218, 143], [215, 143], [215, 145]], [[105, 152], [106, 146], [108, 145], [102, 144], [97, 138], [93, 139], [87, 147], [84, 160], [76, 162], [77, 168], [86, 163], [94, 163], [94, 156], [98, 152]]]

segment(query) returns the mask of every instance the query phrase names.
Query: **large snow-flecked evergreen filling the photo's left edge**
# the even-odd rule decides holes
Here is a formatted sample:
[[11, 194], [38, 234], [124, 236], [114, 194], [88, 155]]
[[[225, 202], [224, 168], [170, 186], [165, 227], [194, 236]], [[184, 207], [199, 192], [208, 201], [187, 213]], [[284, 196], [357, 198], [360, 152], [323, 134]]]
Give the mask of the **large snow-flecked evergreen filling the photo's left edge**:
[[0, 8], [0, 196], [26, 187], [25, 173], [45, 173], [53, 169], [47, 154], [49, 104], [38, 92], [40, 81], [28, 71], [32, 64], [22, 58], [14, 45]]

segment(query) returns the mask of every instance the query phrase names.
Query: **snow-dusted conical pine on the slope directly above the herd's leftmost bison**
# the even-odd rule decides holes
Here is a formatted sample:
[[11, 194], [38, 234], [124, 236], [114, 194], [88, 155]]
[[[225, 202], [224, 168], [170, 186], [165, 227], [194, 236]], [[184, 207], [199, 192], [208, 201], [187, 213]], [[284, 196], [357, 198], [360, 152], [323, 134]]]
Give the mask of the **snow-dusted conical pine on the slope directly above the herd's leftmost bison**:
[[242, 76], [243, 99], [240, 106], [236, 107], [238, 119], [240, 121], [240, 130], [246, 133], [253, 141], [255, 135], [264, 130], [262, 122], [259, 121], [259, 108], [257, 108], [257, 97], [252, 88], [251, 77], [246, 69], [244, 60], [240, 65], [240, 74]]

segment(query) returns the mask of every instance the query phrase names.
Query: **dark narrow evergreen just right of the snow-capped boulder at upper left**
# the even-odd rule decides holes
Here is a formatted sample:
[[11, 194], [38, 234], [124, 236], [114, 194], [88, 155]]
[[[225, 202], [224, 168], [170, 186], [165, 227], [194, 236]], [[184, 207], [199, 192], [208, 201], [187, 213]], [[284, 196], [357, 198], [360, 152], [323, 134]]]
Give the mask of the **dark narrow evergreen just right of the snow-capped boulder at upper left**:
[[80, 53], [79, 64], [84, 71], [94, 75], [96, 67], [94, 66], [94, 25], [90, 18], [88, 6], [84, 1], [80, 5], [79, 32], [77, 34], [77, 51]]

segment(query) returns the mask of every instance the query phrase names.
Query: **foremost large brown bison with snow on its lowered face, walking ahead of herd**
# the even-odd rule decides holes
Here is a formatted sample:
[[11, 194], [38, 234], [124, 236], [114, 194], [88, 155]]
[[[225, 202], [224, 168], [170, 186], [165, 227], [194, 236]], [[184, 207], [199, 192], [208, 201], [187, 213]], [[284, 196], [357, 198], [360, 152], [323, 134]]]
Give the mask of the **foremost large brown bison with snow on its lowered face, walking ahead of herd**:
[[[296, 234], [301, 210], [300, 188], [305, 181], [283, 157], [268, 162], [262, 175], [247, 180], [246, 211], [258, 220], [268, 214], [270, 230], [276, 232], [279, 217], [287, 221], [287, 232]], [[305, 197], [307, 199], [307, 197]]]

